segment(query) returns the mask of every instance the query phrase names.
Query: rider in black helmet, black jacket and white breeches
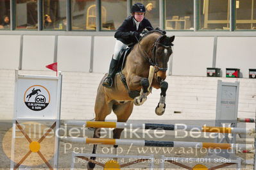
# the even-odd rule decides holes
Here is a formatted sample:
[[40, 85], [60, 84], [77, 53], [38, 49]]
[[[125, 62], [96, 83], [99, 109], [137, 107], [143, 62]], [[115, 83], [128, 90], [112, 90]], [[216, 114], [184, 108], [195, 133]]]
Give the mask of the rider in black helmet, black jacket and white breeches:
[[131, 8], [131, 16], [124, 20], [123, 24], [115, 32], [115, 49], [110, 63], [108, 76], [103, 81], [103, 86], [112, 87], [115, 70], [117, 67], [119, 52], [127, 46], [138, 42], [141, 32], [146, 28], [151, 31], [153, 27], [148, 19], [144, 17], [145, 6], [141, 3], [135, 3]]

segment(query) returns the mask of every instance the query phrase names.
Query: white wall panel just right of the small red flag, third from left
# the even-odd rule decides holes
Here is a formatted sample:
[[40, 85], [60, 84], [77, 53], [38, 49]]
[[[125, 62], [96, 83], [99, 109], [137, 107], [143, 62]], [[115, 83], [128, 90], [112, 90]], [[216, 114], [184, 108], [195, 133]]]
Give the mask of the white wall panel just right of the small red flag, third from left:
[[58, 36], [58, 69], [89, 72], [91, 36]]

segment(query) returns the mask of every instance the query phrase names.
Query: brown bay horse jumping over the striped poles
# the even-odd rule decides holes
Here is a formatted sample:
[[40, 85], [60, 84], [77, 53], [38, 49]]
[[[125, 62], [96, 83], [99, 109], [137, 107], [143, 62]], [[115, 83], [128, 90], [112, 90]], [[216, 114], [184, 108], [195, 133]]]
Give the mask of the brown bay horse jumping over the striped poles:
[[[106, 116], [113, 111], [118, 122], [126, 122], [132, 114], [133, 104], [142, 105], [152, 88], [161, 89], [160, 101], [155, 112], [158, 115], [164, 114], [168, 88], [164, 80], [167, 62], [173, 53], [171, 47], [174, 40], [175, 36], [168, 37], [158, 30], [149, 31], [142, 36], [126, 57], [123, 70], [115, 75], [112, 88], [102, 86], [107, 74], [101, 79], [94, 106], [95, 121], [105, 121]], [[122, 131], [123, 128], [115, 128], [113, 138], [119, 139]], [[94, 129], [93, 137], [100, 137], [100, 128]], [[94, 144], [92, 153], [96, 153], [96, 148], [97, 144]], [[117, 145], [114, 148], [116, 152]], [[96, 157], [90, 157], [90, 159], [95, 160]], [[93, 162], [87, 164], [88, 169], [94, 169], [94, 167]]]

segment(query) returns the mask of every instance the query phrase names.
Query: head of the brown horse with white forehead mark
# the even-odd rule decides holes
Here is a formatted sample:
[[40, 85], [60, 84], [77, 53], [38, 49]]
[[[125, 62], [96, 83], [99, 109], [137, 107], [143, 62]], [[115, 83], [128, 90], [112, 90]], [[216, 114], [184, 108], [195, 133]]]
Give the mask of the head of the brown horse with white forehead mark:
[[166, 79], [167, 63], [173, 53], [171, 46], [174, 40], [175, 36], [160, 35], [152, 45], [151, 64], [155, 66], [158, 82]]

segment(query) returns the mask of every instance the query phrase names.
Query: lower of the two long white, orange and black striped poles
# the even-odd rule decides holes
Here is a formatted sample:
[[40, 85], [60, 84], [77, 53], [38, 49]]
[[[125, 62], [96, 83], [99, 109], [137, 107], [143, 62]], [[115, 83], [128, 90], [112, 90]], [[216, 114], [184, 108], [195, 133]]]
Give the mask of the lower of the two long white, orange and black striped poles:
[[210, 148], [228, 150], [237, 148], [240, 150], [252, 150], [253, 144], [230, 144], [230, 143], [199, 143], [199, 142], [179, 142], [179, 141], [147, 141], [136, 139], [108, 139], [108, 138], [87, 138], [87, 137], [64, 137], [60, 139], [64, 142], [85, 143], [85, 144], [111, 144], [133, 146], [156, 146], [170, 148]]

